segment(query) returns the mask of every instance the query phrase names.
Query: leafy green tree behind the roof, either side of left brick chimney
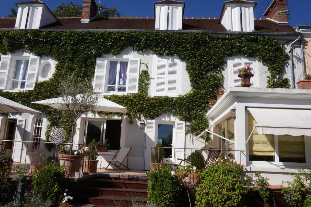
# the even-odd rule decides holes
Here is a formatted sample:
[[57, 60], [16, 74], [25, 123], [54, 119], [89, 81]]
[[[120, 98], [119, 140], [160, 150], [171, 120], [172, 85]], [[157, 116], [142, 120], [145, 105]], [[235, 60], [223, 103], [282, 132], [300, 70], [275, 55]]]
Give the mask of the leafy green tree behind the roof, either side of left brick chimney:
[[[11, 11], [12, 12], [12, 11]], [[53, 14], [56, 17], [81, 17], [82, 6], [79, 4], [73, 4], [69, 2], [67, 4], [58, 4]], [[97, 5], [97, 17], [120, 17], [120, 13], [115, 7], [104, 7], [103, 5]]]

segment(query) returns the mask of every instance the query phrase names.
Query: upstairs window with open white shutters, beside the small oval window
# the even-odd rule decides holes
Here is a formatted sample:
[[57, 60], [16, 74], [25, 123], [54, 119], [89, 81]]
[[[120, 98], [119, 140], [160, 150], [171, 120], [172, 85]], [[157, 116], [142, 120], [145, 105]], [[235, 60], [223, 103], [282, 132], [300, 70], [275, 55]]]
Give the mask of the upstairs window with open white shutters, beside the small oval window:
[[39, 67], [39, 56], [2, 55], [0, 89], [32, 90]]

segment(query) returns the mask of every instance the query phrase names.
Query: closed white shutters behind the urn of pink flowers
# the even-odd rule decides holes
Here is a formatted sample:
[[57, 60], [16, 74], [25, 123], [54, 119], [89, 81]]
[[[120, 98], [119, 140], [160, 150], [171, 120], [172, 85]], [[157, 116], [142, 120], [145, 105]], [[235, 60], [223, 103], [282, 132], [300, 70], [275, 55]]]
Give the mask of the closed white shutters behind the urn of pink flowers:
[[[253, 60], [232, 57], [228, 60], [229, 87], [240, 87], [241, 78], [238, 77], [239, 69], [249, 65], [251, 72], [254, 74], [258, 71], [258, 63]], [[231, 78], [230, 78], [231, 77]], [[251, 77], [251, 87], [255, 87], [255, 77]]]

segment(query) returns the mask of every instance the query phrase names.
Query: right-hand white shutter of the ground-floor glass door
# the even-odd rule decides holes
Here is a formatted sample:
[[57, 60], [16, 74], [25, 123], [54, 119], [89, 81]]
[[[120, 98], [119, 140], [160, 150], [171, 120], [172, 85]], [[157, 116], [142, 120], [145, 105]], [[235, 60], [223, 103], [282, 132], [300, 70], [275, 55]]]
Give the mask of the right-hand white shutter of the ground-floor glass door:
[[[175, 144], [176, 148], [185, 148], [185, 122], [175, 121]], [[174, 163], [179, 164], [179, 159], [184, 159], [184, 149], [175, 149], [174, 153]]]

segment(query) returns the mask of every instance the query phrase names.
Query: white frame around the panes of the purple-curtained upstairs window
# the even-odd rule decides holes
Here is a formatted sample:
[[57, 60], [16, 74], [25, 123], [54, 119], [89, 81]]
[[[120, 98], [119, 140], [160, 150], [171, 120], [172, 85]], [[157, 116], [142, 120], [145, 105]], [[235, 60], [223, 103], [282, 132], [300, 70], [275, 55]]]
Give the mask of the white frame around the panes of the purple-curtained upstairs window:
[[[109, 70], [110, 70], [110, 62], [111, 61], [116, 61], [118, 62], [117, 66], [117, 74], [116, 74], [116, 85], [115, 87], [119, 87], [119, 72], [120, 72], [120, 62], [128, 62], [129, 64], [129, 59], [128, 58], [108, 58], [107, 60], [107, 70], [106, 70], [106, 79], [105, 79], [105, 84], [104, 84], [104, 92], [108, 94], [127, 94], [127, 85], [124, 85], [125, 91], [108, 91], [108, 79], [109, 79]], [[128, 69], [127, 69], [127, 81], [128, 81]], [[120, 86], [121, 87], [121, 86]]]

